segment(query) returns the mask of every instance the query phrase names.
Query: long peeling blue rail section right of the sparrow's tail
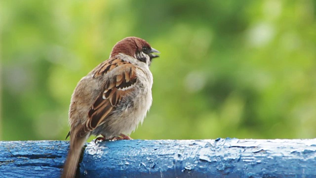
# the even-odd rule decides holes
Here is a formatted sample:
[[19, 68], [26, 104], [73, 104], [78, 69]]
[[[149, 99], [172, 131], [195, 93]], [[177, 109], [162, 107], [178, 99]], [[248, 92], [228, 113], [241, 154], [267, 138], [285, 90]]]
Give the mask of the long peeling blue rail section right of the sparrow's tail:
[[314, 178], [315, 143], [236, 138], [90, 142], [80, 170], [82, 178]]

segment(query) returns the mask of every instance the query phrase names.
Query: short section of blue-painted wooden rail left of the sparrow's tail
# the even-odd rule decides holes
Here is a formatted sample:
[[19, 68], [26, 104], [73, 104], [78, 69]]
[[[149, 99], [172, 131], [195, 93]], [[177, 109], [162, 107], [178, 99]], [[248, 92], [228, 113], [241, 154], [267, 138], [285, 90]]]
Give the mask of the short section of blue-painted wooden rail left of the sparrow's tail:
[[68, 141], [0, 141], [0, 178], [58, 178]]

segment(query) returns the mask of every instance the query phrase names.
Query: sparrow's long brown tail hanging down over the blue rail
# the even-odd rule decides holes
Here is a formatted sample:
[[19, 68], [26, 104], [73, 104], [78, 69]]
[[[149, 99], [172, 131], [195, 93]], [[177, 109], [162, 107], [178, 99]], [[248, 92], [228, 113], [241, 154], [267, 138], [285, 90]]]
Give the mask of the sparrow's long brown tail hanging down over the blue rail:
[[87, 139], [88, 135], [84, 135], [83, 137], [76, 137], [75, 134], [70, 135], [70, 149], [61, 178], [75, 178], [81, 149]]

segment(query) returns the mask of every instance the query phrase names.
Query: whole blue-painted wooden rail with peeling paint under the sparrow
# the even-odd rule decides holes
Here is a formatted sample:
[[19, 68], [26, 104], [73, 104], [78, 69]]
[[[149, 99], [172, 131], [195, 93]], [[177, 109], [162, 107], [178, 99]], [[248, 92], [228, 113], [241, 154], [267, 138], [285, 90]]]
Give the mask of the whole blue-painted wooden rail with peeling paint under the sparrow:
[[[68, 141], [0, 141], [0, 177], [58, 178]], [[87, 143], [81, 178], [315, 178], [316, 139]]]

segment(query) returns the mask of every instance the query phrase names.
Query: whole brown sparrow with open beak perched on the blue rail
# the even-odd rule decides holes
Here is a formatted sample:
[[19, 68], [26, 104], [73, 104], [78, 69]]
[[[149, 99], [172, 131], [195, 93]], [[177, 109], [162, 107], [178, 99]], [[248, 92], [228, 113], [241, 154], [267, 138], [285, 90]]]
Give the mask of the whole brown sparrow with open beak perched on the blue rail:
[[[62, 178], [74, 178], [81, 149], [90, 135], [131, 139], [152, 105], [153, 58], [159, 57], [145, 40], [127, 37], [112, 48], [110, 58], [83, 77], [69, 108], [70, 148]], [[66, 137], [66, 138], [67, 138]]]

